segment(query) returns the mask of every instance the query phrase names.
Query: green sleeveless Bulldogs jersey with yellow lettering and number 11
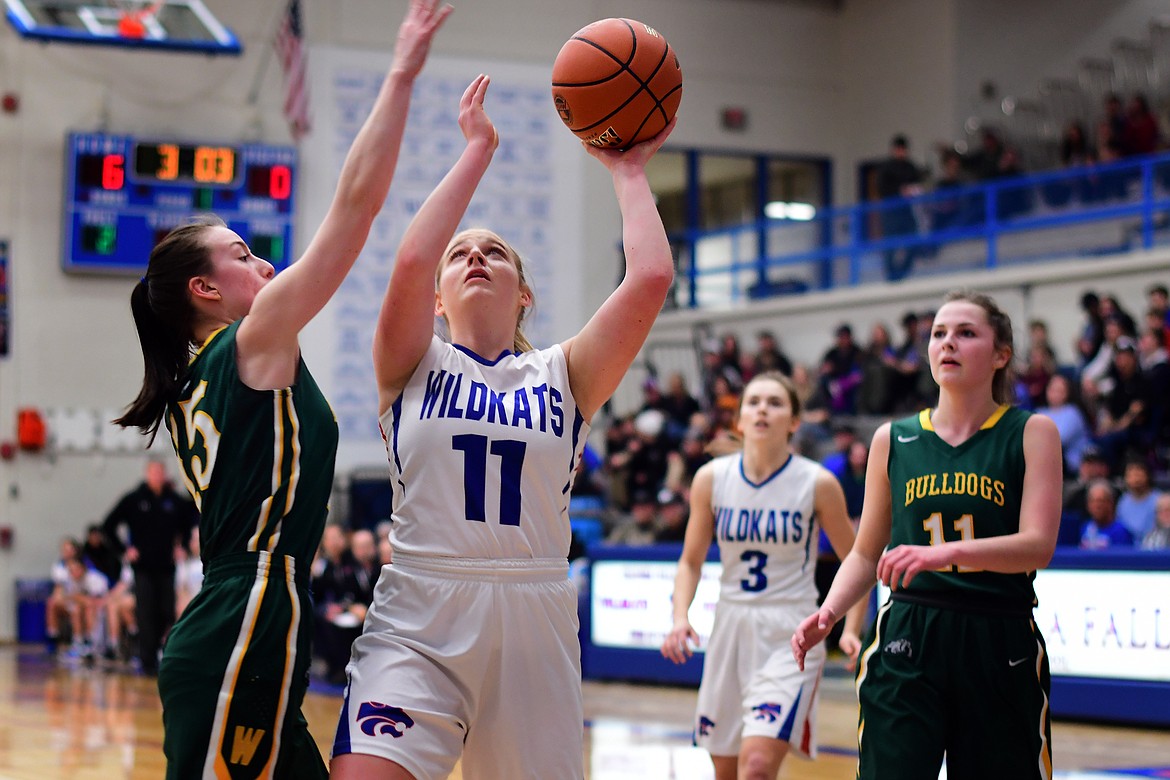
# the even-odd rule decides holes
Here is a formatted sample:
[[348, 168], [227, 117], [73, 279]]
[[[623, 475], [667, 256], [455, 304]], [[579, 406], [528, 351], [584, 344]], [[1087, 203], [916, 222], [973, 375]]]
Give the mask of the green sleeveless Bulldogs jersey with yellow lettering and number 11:
[[[958, 447], [935, 433], [930, 409], [889, 432], [890, 547], [985, 539], [1019, 531], [1024, 424], [1031, 414], [1002, 406]], [[963, 592], [989, 602], [1035, 603], [1035, 572], [1002, 574], [949, 566], [914, 578], [907, 593]]]

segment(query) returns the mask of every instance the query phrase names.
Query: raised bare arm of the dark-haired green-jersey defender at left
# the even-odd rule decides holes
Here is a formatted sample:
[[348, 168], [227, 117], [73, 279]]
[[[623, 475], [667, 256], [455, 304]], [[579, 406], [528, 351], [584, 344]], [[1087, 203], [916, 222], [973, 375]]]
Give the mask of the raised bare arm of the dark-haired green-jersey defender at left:
[[[297, 333], [329, 302], [365, 246], [398, 161], [414, 78], [435, 30], [450, 14], [439, 0], [411, 0], [394, 60], [373, 109], [350, 147], [337, 192], [301, 258], [256, 296], [240, 325], [241, 359], [297, 354]], [[261, 360], [263, 357], [260, 358]]]

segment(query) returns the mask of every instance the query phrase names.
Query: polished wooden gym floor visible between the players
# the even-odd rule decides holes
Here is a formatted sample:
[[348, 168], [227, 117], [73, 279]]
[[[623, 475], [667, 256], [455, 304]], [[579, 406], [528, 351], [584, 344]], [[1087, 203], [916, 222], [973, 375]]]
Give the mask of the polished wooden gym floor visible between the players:
[[[820, 755], [790, 758], [782, 778], [853, 778], [852, 681], [833, 667], [823, 690]], [[311, 691], [305, 700], [309, 726], [326, 754], [339, 703], [329, 690]], [[690, 746], [694, 704], [691, 689], [586, 682], [586, 776], [710, 779], [707, 754]], [[40, 646], [0, 647], [0, 780], [161, 778], [160, 713], [153, 679], [54, 661]], [[1166, 731], [1057, 722], [1053, 751], [1060, 780], [1170, 778]]]

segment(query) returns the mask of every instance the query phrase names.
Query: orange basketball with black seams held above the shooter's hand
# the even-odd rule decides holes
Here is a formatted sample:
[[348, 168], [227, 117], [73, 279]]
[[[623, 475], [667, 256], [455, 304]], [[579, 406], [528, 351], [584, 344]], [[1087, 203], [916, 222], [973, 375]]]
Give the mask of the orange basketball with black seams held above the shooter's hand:
[[583, 27], [552, 63], [552, 102], [578, 138], [626, 150], [666, 127], [682, 99], [682, 69], [666, 39], [633, 19]]

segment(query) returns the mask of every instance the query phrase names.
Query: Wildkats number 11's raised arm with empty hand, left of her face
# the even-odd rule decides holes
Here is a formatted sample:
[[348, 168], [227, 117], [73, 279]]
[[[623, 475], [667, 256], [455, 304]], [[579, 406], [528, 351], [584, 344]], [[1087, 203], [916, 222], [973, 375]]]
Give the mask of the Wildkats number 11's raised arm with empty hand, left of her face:
[[483, 110], [490, 80], [476, 76], [459, 103], [463, 153], [411, 220], [394, 258], [373, 334], [373, 372], [380, 415], [401, 393], [431, 344], [435, 317], [435, 271], [475, 188], [500, 145]]

